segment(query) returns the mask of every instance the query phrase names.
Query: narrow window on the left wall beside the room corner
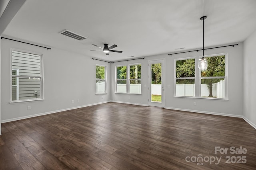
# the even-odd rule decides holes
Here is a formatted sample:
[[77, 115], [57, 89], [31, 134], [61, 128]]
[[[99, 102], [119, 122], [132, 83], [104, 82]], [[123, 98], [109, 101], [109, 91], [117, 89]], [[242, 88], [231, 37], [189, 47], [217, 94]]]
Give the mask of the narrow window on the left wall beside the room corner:
[[106, 93], [106, 66], [96, 65], [96, 94]]

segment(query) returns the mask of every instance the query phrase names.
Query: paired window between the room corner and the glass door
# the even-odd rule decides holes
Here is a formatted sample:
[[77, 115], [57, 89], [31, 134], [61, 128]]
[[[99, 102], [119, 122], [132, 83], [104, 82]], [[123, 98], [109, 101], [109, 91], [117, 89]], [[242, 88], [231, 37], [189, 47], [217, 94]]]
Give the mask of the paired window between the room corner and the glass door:
[[141, 64], [116, 66], [116, 93], [141, 94]]

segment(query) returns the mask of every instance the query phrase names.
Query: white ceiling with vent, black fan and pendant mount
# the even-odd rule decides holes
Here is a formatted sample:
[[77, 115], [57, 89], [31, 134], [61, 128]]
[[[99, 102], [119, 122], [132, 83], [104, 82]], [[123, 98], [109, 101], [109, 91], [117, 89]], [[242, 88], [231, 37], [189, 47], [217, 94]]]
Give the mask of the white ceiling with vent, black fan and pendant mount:
[[[256, 30], [256, 0], [26, 0], [3, 35], [118, 61], [202, 48], [202, 16], [205, 47], [241, 42]], [[123, 53], [90, 51], [104, 43]]]

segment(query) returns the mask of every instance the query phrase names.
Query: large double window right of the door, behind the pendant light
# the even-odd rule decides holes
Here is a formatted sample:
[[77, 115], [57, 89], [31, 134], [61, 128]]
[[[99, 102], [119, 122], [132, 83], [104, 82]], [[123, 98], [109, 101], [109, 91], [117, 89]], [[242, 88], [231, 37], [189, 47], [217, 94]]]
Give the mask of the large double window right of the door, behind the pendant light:
[[205, 58], [208, 60], [208, 67], [205, 71], [198, 69], [198, 63], [195, 62], [198, 60], [197, 57], [175, 60], [175, 96], [227, 98], [226, 54], [211, 55]]

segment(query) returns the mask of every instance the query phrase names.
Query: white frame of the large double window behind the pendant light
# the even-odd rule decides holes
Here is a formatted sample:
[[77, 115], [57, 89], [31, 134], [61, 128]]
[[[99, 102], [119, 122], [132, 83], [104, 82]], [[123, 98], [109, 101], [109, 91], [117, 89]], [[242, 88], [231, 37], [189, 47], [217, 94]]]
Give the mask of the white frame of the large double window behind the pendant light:
[[[205, 58], [207, 57], [216, 57], [216, 56], [225, 56], [225, 76], [220, 77], [204, 77], [204, 79], [218, 79], [224, 78], [225, 80], [225, 98], [210, 98], [210, 97], [201, 97], [201, 72], [198, 68], [198, 60], [202, 58], [202, 56], [197, 57], [186, 57], [186, 58], [178, 58], [174, 59], [174, 97], [178, 98], [200, 98], [200, 99], [213, 99], [213, 100], [228, 100], [228, 53], [220, 53], [220, 54], [213, 54], [213, 55], [204, 55]], [[195, 59], [195, 96], [176, 96], [176, 61], [186, 60], [186, 59]], [[190, 79], [190, 78], [179, 78], [179, 79]]]

